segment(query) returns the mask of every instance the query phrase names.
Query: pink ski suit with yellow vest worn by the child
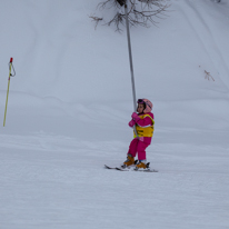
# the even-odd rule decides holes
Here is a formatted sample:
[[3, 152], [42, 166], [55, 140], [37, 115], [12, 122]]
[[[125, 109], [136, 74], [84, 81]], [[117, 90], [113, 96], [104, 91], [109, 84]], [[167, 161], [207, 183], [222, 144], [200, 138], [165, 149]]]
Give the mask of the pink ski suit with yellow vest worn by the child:
[[133, 131], [133, 140], [130, 142], [128, 155], [131, 155], [133, 158], [138, 152], [138, 160], [146, 160], [146, 149], [151, 143], [151, 139], [153, 136], [153, 113], [139, 113], [138, 120], [131, 120], [129, 126], [132, 128], [136, 125], [136, 130], [138, 138]]

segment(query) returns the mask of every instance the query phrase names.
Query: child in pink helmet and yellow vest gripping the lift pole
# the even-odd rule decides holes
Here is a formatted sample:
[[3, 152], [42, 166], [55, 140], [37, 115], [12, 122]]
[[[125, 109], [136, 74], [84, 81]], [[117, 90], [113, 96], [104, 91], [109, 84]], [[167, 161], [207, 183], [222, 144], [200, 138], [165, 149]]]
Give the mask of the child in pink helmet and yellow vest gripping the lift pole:
[[146, 148], [151, 143], [153, 135], [153, 113], [152, 103], [148, 99], [139, 99], [137, 112], [132, 113], [132, 120], [129, 126], [132, 128], [136, 125], [137, 135], [133, 131], [133, 140], [130, 142], [129, 151], [127, 153], [127, 160], [122, 167], [129, 167], [135, 165], [135, 157], [138, 152], [139, 163], [136, 165], [136, 169], [147, 168]]

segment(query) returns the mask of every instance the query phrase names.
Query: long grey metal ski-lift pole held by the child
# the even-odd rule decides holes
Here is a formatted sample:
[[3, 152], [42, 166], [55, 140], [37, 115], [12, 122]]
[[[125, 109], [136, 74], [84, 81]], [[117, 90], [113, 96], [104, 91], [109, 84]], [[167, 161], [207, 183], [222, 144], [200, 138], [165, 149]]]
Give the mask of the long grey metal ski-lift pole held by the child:
[[[129, 50], [129, 60], [130, 60], [130, 73], [131, 73], [131, 82], [132, 82], [132, 98], [133, 98], [133, 109], [135, 112], [137, 110], [136, 106], [136, 86], [135, 86], [135, 77], [133, 77], [133, 64], [132, 64], [132, 52], [131, 52], [131, 42], [130, 42], [130, 28], [129, 28], [129, 20], [128, 20], [128, 0], [125, 0], [125, 13], [126, 13], [126, 27], [127, 27], [127, 40], [128, 40], [128, 50]], [[138, 138], [136, 125], [133, 126], [135, 133]]]

